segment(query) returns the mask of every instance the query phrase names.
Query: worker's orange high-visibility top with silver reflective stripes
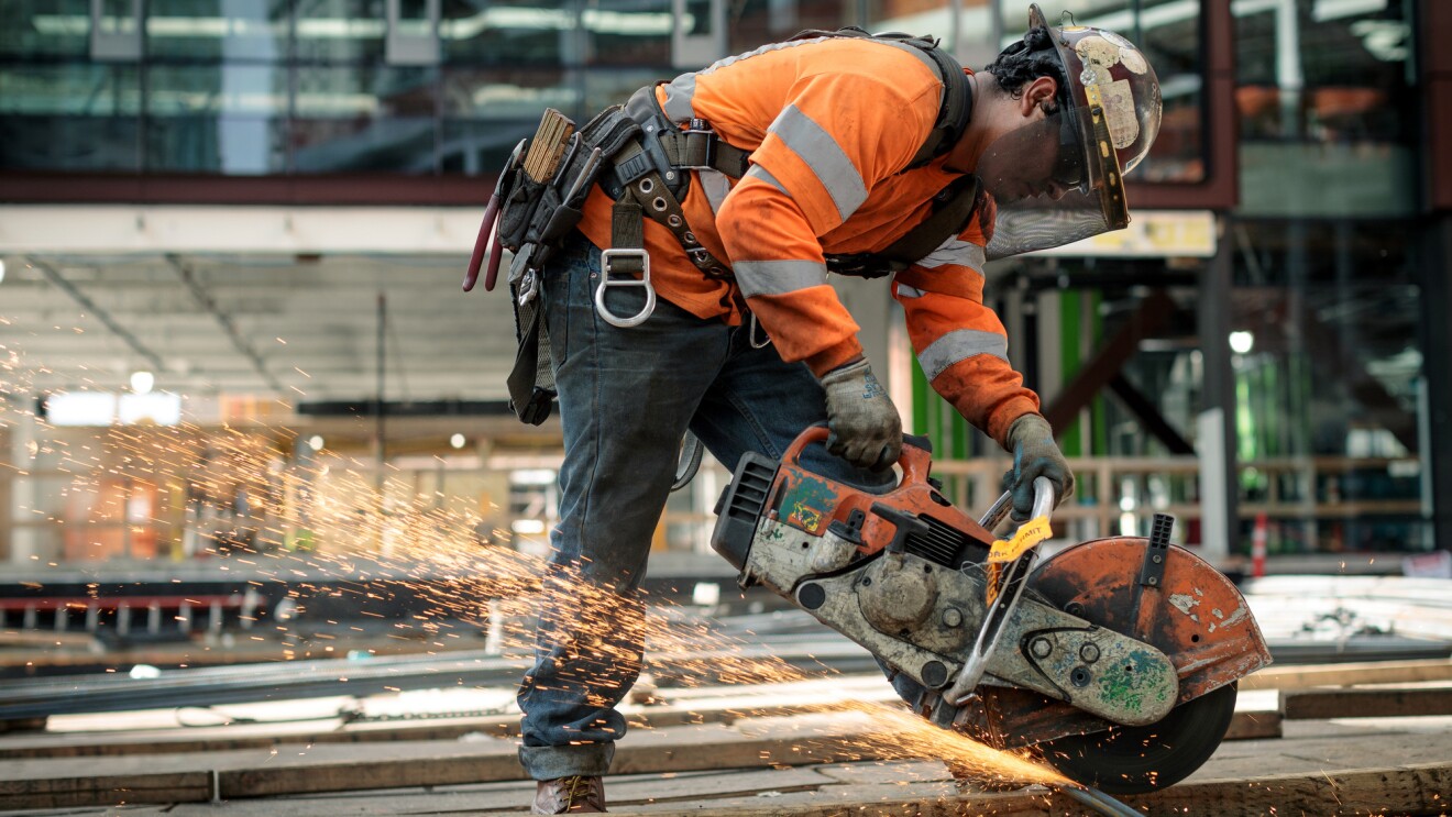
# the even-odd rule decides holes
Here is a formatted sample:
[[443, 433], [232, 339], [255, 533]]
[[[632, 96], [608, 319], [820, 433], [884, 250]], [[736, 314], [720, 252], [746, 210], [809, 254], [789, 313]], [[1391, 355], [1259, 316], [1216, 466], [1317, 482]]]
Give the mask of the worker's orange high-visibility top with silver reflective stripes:
[[[735, 325], [739, 287], [781, 357], [819, 376], [861, 354], [823, 253], [884, 250], [958, 177], [944, 158], [906, 170], [938, 118], [942, 87], [916, 48], [848, 38], [767, 45], [658, 86], [668, 119], [682, 128], [704, 119], [751, 151], [741, 180], [696, 171], [682, 202], [697, 239], [736, 280], [707, 279], [666, 228], [645, 219], [659, 296]], [[610, 208], [598, 187], [585, 203], [579, 229], [597, 247], [610, 247]], [[1002, 444], [1015, 419], [1038, 411], [1038, 398], [1009, 366], [1003, 325], [983, 305], [986, 244], [970, 219], [899, 273], [893, 296], [934, 389]]]

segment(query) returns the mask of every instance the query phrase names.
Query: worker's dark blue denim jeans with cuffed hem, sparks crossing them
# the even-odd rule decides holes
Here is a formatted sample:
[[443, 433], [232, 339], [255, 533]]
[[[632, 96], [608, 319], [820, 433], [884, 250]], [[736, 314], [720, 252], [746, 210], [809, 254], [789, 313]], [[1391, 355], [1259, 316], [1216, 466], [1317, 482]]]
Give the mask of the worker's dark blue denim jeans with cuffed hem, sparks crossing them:
[[[536, 663], [518, 694], [520, 760], [542, 781], [605, 773], [626, 733], [616, 705], [643, 660], [637, 588], [685, 431], [735, 467], [745, 451], [780, 457], [802, 430], [826, 419], [812, 371], [784, 363], [775, 347], [752, 348], [745, 327], [662, 299], [639, 327], [617, 328], [595, 313], [598, 283], [600, 250], [576, 235], [540, 293], [565, 430]], [[605, 303], [635, 315], [645, 292], [611, 287]], [[890, 472], [855, 469], [820, 446], [803, 464], [864, 488], [892, 485]], [[896, 685], [916, 697], [906, 676]]]

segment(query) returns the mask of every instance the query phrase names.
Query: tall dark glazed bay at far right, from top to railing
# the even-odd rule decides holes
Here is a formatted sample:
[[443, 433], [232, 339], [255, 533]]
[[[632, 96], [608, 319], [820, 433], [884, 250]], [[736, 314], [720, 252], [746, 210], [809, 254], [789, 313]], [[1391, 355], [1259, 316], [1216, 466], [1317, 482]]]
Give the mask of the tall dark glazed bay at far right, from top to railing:
[[1236, 16], [1233, 322], [1253, 338], [1234, 358], [1237, 456], [1272, 553], [1433, 547], [1420, 302], [1445, 271], [1406, 218], [1420, 197], [1416, 7], [1288, 0]]

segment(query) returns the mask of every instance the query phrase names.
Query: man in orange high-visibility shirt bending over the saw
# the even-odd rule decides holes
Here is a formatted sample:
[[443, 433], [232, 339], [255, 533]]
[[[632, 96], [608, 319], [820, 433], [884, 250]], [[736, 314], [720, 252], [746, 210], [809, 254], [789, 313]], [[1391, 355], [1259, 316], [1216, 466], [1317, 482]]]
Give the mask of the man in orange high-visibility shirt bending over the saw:
[[[616, 155], [539, 270], [565, 463], [518, 694], [536, 814], [605, 808], [626, 731], [616, 705], [642, 666], [637, 586], [687, 431], [733, 466], [748, 450], [780, 457], [825, 421], [809, 467], [892, 485], [902, 422], [829, 268], [896, 273], [884, 289], [934, 389], [1013, 454], [1005, 489], [1021, 515], [1034, 477], [1059, 499], [1073, 489], [983, 303], [983, 266], [1127, 222], [1119, 176], [1159, 129], [1153, 71], [1112, 32], [1051, 28], [1037, 7], [980, 73], [931, 42], [817, 33], [637, 94], [624, 110], [645, 149]], [[687, 135], [709, 149], [652, 158], [652, 139]], [[915, 228], [950, 205], [951, 229], [923, 245]]]

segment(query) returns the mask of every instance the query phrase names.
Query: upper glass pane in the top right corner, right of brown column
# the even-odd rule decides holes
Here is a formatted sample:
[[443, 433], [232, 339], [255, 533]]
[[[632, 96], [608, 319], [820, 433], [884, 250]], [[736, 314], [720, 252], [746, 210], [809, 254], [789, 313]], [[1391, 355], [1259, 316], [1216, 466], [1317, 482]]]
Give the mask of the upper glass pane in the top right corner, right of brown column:
[[1416, 212], [1413, 7], [1286, 0], [1237, 15], [1241, 213]]

